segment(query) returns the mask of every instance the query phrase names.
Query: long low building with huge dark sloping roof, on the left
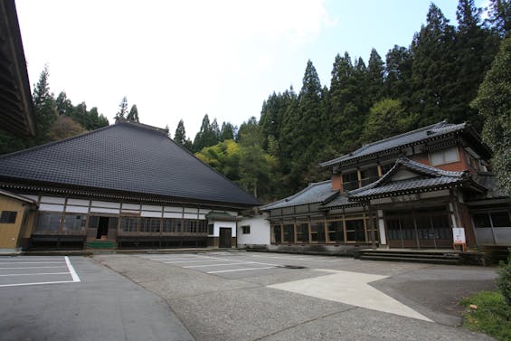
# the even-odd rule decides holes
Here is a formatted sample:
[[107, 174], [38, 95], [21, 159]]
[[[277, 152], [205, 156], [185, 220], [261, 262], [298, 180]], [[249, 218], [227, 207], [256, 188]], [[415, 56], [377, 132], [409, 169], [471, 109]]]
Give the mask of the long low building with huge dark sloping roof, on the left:
[[0, 249], [232, 247], [259, 204], [166, 129], [124, 120], [0, 156]]

